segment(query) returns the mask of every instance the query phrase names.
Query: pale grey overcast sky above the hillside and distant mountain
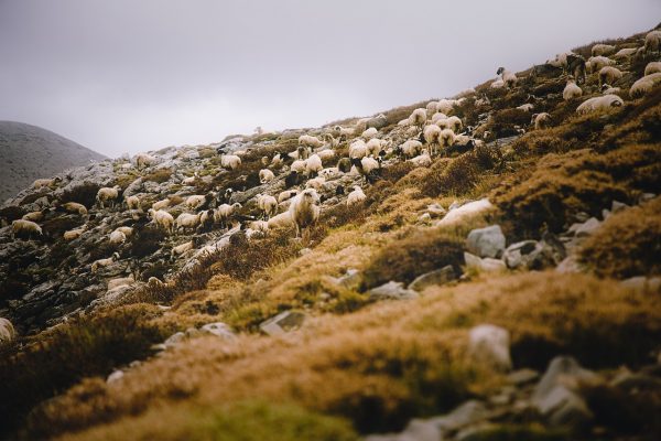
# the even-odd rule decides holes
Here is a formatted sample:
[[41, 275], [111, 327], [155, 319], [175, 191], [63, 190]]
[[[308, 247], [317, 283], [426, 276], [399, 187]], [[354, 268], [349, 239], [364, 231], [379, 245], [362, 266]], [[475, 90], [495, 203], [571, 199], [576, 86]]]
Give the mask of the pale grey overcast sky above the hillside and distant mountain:
[[659, 0], [0, 0], [0, 120], [110, 157], [452, 96]]

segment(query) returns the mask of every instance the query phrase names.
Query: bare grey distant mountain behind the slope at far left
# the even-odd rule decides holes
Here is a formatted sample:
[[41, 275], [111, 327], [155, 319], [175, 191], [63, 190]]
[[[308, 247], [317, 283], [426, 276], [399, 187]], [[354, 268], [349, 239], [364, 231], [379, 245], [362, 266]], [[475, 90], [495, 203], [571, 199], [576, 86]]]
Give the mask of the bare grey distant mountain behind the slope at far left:
[[104, 159], [102, 154], [41, 127], [0, 121], [0, 203], [39, 178]]

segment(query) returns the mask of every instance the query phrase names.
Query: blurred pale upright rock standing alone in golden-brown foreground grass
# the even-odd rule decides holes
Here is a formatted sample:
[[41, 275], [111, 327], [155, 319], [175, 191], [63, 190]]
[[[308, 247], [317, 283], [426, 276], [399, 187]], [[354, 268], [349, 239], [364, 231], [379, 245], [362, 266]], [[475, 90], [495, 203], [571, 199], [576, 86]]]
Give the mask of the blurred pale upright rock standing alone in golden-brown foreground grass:
[[491, 324], [475, 326], [468, 334], [468, 356], [495, 370], [512, 368], [509, 345], [509, 331]]

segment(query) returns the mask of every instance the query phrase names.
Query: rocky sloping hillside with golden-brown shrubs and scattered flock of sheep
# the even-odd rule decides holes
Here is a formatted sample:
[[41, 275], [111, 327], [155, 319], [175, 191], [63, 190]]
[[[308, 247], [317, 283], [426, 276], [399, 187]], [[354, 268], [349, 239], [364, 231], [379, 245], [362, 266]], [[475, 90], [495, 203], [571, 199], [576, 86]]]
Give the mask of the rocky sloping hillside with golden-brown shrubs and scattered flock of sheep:
[[[600, 42], [606, 94], [590, 66], [563, 97], [550, 63], [20, 193], [0, 208], [0, 438], [659, 439], [646, 34]], [[318, 218], [299, 237], [301, 201]], [[42, 234], [12, 235], [25, 215]]]

